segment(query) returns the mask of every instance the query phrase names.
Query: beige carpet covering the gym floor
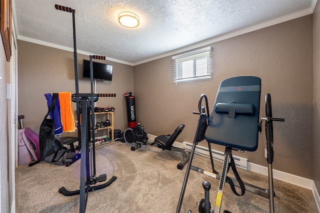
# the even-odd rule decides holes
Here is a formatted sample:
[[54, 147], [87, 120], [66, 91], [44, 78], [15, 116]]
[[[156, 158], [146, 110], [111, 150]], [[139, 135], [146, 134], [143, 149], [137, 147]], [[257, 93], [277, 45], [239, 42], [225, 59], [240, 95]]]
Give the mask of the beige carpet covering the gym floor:
[[[117, 179], [109, 187], [90, 192], [87, 213], [175, 213], [184, 179], [183, 170], [176, 169], [181, 160], [177, 152], [142, 146], [130, 150], [133, 144], [114, 142], [96, 147], [96, 174]], [[194, 166], [210, 170], [208, 158], [194, 156]], [[215, 161], [220, 172], [222, 163]], [[244, 182], [267, 189], [266, 176], [238, 169]], [[33, 167], [20, 165], [15, 172], [16, 213], [78, 213], [79, 196], [65, 197], [58, 193], [65, 187], [79, 189], [80, 160], [70, 167], [41, 162]], [[219, 181], [190, 171], [181, 213], [198, 212], [196, 202], [204, 198], [202, 182], [211, 184], [210, 202], [214, 206]], [[310, 190], [274, 180], [276, 213], [317, 213]], [[268, 199], [246, 192], [235, 196], [227, 185], [222, 209], [232, 213], [268, 213]]]

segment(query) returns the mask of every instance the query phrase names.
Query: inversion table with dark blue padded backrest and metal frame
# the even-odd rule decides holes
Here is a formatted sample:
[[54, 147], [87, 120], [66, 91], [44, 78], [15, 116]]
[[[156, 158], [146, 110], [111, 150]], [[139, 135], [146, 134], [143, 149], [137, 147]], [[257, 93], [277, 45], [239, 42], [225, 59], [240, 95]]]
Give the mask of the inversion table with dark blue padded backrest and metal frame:
[[[270, 212], [274, 212], [273, 197], [275, 195], [273, 192], [273, 177], [271, 167], [271, 159], [273, 159], [272, 121], [284, 121], [284, 119], [272, 118], [271, 98], [270, 94], [266, 94], [266, 117], [261, 118], [261, 122], [259, 123], [260, 88], [261, 80], [258, 77], [240, 76], [223, 80], [220, 83], [215, 103], [211, 111], [211, 116], [209, 115], [208, 111], [207, 97], [205, 95], [200, 96], [198, 102], [198, 112], [193, 112], [194, 114], [199, 114], [200, 116], [191, 148], [189, 163], [183, 180], [176, 213], [179, 213], [181, 209], [190, 170], [197, 171], [199, 173], [219, 180], [218, 192], [213, 211], [210, 210], [209, 203], [210, 185], [208, 182], [202, 183], [205, 191], [205, 199], [202, 199], [198, 203], [200, 213], [220, 212], [225, 183], [230, 184], [233, 193], [237, 196], [241, 196], [245, 193], [245, 191], [249, 191], [251, 193], [269, 199]], [[202, 99], [205, 100], [206, 107], [201, 107]], [[265, 130], [268, 152], [267, 162], [269, 165], [269, 190], [242, 182], [236, 172], [234, 160], [232, 158], [232, 151], [253, 152], [257, 149], [258, 132], [261, 132], [262, 120], [266, 121]], [[212, 172], [192, 166], [195, 147], [200, 141], [204, 139], [208, 144]], [[216, 170], [214, 169], [212, 150], [210, 146], [211, 143], [225, 146], [224, 162], [221, 173], [216, 172]], [[236, 179], [227, 177], [227, 171], [229, 167], [232, 168]], [[234, 186], [241, 189], [241, 194], [238, 194], [235, 191]], [[224, 211], [224, 213], [228, 213], [228, 211]]]

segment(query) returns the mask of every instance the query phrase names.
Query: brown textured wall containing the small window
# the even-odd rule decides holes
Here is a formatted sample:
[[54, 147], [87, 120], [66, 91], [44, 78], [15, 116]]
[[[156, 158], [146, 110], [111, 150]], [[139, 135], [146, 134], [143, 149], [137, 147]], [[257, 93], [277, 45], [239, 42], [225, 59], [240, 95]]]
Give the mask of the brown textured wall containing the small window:
[[[264, 95], [270, 93], [274, 117], [274, 164], [280, 170], [312, 179], [312, 16], [304, 16], [247, 34], [212, 43], [213, 79], [179, 83], [172, 81], [172, 59], [161, 58], [134, 66], [134, 95], [138, 122], [152, 135], [170, 134], [178, 124], [186, 126], [178, 142], [192, 142], [201, 94], [210, 108], [221, 80], [253, 75], [262, 80], [260, 116], [265, 115]], [[201, 146], [206, 146], [204, 142]], [[258, 150], [238, 154], [249, 162], [267, 166], [265, 133]], [[223, 151], [215, 145], [214, 149]]]

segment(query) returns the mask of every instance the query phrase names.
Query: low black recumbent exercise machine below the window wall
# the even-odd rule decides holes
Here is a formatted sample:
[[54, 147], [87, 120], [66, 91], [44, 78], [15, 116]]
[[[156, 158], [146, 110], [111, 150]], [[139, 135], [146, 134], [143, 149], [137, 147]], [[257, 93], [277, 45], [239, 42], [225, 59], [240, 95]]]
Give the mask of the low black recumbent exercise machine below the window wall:
[[142, 125], [131, 129], [127, 128], [123, 132], [124, 141], [127, 143], [135, 143], [134, 147], [131, 147], [131, 151], [134, 151], [141, 147], [141, 145], [157, 146], [162, 150], [176, 151], [182, 154], [181, 162], [176, 166], [179, 170], [182, 170], [184, 165], [188, 162], [190, 153], [186, 153], [184, 149], [174, 147], [173, 143], [179, 136], [184, 128], [184, 124], [180, 124], [171, 135], [160, 135], [154, 139], [154, 142], [149, 142], [147, 134]]

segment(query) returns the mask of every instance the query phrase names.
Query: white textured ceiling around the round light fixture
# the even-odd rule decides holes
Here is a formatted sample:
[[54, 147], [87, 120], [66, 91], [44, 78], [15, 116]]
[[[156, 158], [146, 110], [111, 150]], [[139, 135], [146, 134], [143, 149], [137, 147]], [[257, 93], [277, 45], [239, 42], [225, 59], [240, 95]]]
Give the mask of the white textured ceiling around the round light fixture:
[[[310, 14], [316, 1], [12, 0], [12, 11], [18, 39], [73, 48], [72, 14], [56, 10], [54, 4], [71, 7], [76, 10], [78, 51], [138, 64], [252, 26]], [[140, 17], [138, 27], [118, 23], [118, 13], [128, 10]]]

